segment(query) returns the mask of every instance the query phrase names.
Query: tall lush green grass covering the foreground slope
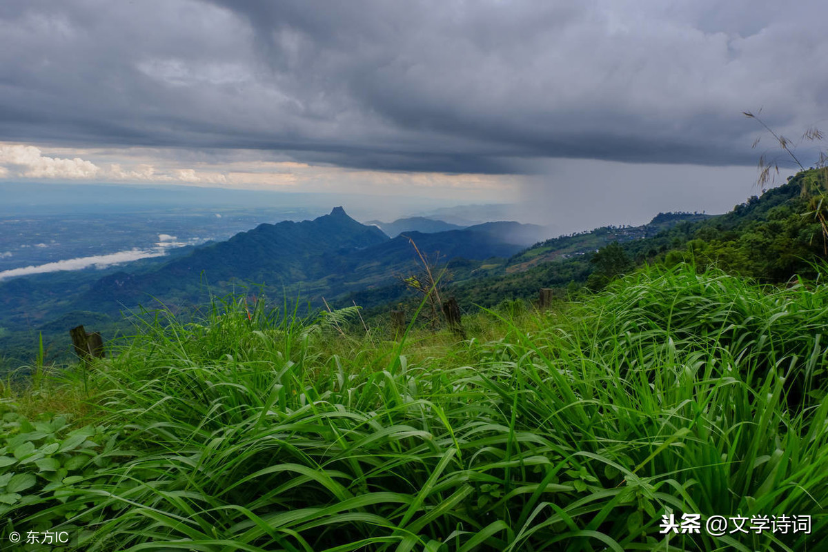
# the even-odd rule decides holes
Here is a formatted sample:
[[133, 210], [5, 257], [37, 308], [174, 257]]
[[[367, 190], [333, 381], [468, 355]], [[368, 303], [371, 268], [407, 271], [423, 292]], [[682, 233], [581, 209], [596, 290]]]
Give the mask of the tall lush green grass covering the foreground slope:
[[[462, 343], [235, 300], [158, 319], [85, 375], [89, 426], [5, 416], [0, 473], [31, 476], [7, 530], [83, 550], [820, 550], [826, 308], [825, 286], [678, 267], [479, 314], [499, 337]], [[662, 535], [671, 512], [812, 530]]]

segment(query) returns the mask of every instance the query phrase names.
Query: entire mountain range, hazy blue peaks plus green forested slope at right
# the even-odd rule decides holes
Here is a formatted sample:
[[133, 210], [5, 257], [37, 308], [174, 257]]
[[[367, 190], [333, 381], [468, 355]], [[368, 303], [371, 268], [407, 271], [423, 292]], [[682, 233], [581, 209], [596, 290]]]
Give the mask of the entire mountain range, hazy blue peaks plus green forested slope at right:
[[[596, 228], [528, 247], [542, 227], [493, 222], [451, 228], [408, 218], [386, 225], [388, 233], [402, 228], [390, 237], [382, 223], [359, 223], [337, 207], [313, 220], [260, 224], [226, 241], [181, 248], [167, 257], [103, 271], [0, 281], [0, 353], [13, 356], [15, 348], [31, 353], [40, 333], [46, 343], [55, 343], [52, 349], [63, 350], [73, 325], [91, 324], [113, 335], [123, 327], [121, 314], [139, 305], [187, 311], [204, 305], [210, 295], [230, 292], [264, 292], [278, 303], [298, 297], [311, 308], [323, 297], [335, 307], [356, 302], [381, 308], [407, 296], [402, 278], [421, 268], [415, 245], [449, 268], [453, 293], [466, 305], [530, 297], [538, 287], [583, 285], [593, 270], [590, 258], [611, 242], [623, 243], [635, 262], [676, 262], [696, 255], [705, 263], [729, 263], [735, 271], [749, 269], [749, 276], [773, 274], [778, 281], [800, 270], [797, 259], [816, 247], [813, 240], [800, 239], [811, 236], [810, 226], [803, 225], [813, 223], [802, 218], [798, 198], [798, 180], [792, 180], [729, 214], [658, 214], [640, 227]], [[777, 249], [773, 266], [765, 266], [765, 252]], [[758, 252], [756, 259], [752, 251]]]

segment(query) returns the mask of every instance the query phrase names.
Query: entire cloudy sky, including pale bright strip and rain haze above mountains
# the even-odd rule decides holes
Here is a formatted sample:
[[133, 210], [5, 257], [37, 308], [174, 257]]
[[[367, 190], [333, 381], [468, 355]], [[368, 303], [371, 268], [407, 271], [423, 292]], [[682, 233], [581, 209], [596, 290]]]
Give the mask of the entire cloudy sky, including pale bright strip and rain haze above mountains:
[[0, 182], [499, 202], [562, 232], [724, 212], [758, 194], [759, 156], [792, 171], [744, 111], [816, 159], [798, 141], [828, 127], [826, 16], [821, 0], [6, 0]]

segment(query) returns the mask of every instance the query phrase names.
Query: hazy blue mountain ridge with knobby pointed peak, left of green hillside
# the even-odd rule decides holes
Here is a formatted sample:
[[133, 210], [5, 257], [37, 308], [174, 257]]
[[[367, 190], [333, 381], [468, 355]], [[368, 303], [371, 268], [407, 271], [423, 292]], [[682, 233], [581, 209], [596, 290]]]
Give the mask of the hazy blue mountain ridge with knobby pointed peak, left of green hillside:
[[172, 310], [187, 309], [203, 304], [209, 294], [247, 286], [260, 286], [274, 298], [301, 297], [320, 305], [323, 296], [335, 300], [357, 290], [388, 286], [416, 271], [412, 242], [443, 262], [463, 258], [479, 264], [491, 257], [510, 257], [540, 228], [513, 222], [446, 226], [452, 229], [407, 231], [390, 238], [337, 207], [313, 220], [263, 223], [226, 241], [172, 250], [169, 257], [107, 271], [12, 278], [0, 282], [0, 341], [4, 331], [26, 329], [31, 335], [33, 329], [51, 332], [55, 324], [116, 320], [123, 311], [139, 306], [161, 303]]

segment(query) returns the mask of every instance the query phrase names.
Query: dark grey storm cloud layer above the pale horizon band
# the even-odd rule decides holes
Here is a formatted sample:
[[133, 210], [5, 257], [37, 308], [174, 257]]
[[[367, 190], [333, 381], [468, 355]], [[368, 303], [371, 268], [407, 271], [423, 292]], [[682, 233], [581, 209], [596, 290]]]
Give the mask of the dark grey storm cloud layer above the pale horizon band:
[[826, 118], [823, 2], [0, 5], [0, 140], [387, 170], [753, 164]]

